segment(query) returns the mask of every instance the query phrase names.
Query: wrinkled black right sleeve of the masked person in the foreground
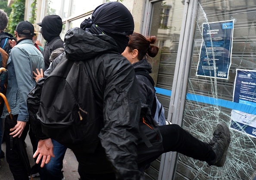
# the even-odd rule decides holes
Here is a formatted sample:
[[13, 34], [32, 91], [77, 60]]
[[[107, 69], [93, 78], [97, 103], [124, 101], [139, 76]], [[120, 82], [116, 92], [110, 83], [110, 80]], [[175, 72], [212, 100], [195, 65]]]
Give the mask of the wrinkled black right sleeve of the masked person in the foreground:
[[[140, 115], [137, 80], [134, 68], [125, 59], [107, 64], [104, 72], [104, 125], [99, 137], [117, 179], [140, 180], [137, 167], [137, 135]], [[104, 85], [103, 85], [104, 86]]]

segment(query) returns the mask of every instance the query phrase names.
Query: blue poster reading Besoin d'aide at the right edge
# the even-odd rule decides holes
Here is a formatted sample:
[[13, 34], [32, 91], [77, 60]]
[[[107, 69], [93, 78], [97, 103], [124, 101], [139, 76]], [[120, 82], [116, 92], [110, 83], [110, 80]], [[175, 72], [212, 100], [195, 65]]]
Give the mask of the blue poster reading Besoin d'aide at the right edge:
[[256, 71], [236, 70], [233, 102], [256, 107]]

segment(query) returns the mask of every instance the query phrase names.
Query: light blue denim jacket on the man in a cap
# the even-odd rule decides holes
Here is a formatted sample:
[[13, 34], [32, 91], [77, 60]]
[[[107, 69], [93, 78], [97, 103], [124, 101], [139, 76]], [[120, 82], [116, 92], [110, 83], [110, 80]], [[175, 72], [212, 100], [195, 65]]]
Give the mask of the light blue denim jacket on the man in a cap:
[[[11, 49], [7, 61], [8, 85], [6, 98], [13, 115], [19, 114], [18, 121], [28, 121], [27, 97], [36, 85], [33, 70], [44, 70], [44, 57], [32, 40], [22, 40]], [[8, 115], [6, 105], [1, 118]]]

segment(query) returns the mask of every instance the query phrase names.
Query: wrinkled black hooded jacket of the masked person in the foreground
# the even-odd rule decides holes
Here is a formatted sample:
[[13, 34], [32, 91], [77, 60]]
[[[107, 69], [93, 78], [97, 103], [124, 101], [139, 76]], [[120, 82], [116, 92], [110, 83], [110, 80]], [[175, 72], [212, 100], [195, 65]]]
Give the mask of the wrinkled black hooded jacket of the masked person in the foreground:
[[[97, 106], [97, 116], [103, 124], [95, 153], [75, 152], [79, 168], [88, 174], [115, 172], [117, 179], [140, 180], [142, 174], [137, 167], [136, 149], [140, 101], [134, 68], [117, 53], [115, 40], [106, 34], [95, 35], [75, 27], [67, 32], [64, 48], [66, 55], [60, 55], [53, 65], [64, 58], [84, 62], [96, 100], [90, 104]], [[92, 94], [84, 96], [90, 99]], [[33, 104], [33, 98], [29, 98], [28, 107]], [[38, 131], [36, 133], [39, 135]]]

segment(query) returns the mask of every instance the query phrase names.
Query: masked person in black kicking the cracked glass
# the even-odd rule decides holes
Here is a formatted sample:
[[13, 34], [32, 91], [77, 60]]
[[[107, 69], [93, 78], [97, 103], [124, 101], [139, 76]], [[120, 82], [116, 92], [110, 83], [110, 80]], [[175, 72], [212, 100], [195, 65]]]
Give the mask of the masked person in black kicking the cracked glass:
[[[78, 89], [78, 94], [82, 95], [77, 104], [90, 112], [86, 113], [90, 129], [100, 129], [91, 132], [98, 138], [95, 143], [90, 143], [84, 149], [80, 145], [73, 149], [79, 163], [81, 180], [142, 180], [143, 174], [138, 170], [139, 162], [144, 165], [149, 163], [149, 159], [142, 162], [138, 155], [138, 151], [141, 151], [138, 148], [140, 144], [137, 144], [141, 139], [138, 83], [131, 63], [121, 55], [128, 45], [128, 35], [134, 31], [132, 15], [121, 3], [105, 3], [98, 6], [92, 19], [85, 19], [80, 27], [67, 32], [65, 52], [55, 61], [61, 59], [56, 68], [62, 67], [63, 62], [65, 64], [67, 61], [75, 61], [76, 66], [76, 63], [84, 64], [83, 78], [79, 82], [81, 80], [86, 88]], [[43, 95], [46, 98], [48, 91], [42, 89], [42, 98]], [[40, 104], [37, 117], [41, 122], [47, 117], [42, 115], [43, 109]], [[209, 162], [209, 165], [224, 164], [230, 141], [229, 130], [224, 123], [217, 125], [211, 144], [203, 143], [178, 125], [159, 127], [162, 127], [160, 132], [164, 150], [151, 154], [150, 160], [162, 153], [177, 151]], [[50, 138], [40, 132], [40, 128], [38, 130], [37, 135], [42, 137], [34, 157], [38, 155], [37, 163], [42, 159], [43, 167], [54, 157], [53, 144]], [[91, 134], [88, 136], [91, 137]]]

